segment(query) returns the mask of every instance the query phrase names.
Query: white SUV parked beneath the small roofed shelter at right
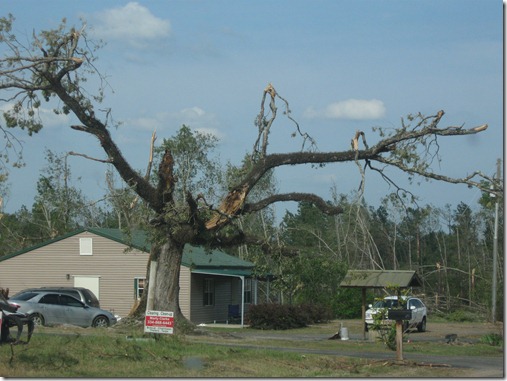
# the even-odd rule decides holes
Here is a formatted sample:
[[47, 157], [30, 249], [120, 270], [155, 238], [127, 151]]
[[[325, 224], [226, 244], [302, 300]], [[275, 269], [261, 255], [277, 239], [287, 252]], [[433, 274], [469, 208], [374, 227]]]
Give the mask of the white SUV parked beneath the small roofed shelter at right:
[[[406, 320], [403, 322], [403, 331], [407, 331], [410, 328], [417, 327], [419, 332], [426, 331], [426, 319], [428, 310], [421, 299], [414, 298], [412, 296], [402, 296], [404, 301], [406, 301], [406, 309], [412, 311], [412, 319]], [[383, 300], [379, 300], [375, 302], [373, 305], [369, 305], [369, 309], [366, 311], [365, 315], [365, 325], [366, 331], [368, 331], [368, 326], [374, 323], [373, 317], [376, 315], [380, 309], [391, 309], [393, 307], [398, 307], [398, 297], [397, 296], [387, 296]], [[386, 312], [387, 313], [387, 312]], [[383, 320], [384, 323], [390, 323], [390, 320]]]

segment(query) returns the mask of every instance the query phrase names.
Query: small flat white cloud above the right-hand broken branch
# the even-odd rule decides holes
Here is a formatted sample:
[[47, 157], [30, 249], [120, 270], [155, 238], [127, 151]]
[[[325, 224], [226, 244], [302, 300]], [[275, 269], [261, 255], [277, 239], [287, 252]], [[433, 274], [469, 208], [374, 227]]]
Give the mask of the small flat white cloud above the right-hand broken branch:
[[304, 116], [307, 118], [366, 120], [383, 118], [385, 113], [384, 103], [378, 99], [347, 99], [333, 102], [321, 110], [309, 107]]

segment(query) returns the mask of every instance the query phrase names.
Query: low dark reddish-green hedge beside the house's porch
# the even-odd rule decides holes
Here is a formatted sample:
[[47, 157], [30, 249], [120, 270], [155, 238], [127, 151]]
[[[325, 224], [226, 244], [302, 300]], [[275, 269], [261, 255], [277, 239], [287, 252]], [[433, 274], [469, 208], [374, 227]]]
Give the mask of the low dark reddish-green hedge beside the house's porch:
[[331, 312], [320, 305], [269, 303], [250, 306], [245, 318], [251, 328], [281, 330], [327, 322], [331, 319]]

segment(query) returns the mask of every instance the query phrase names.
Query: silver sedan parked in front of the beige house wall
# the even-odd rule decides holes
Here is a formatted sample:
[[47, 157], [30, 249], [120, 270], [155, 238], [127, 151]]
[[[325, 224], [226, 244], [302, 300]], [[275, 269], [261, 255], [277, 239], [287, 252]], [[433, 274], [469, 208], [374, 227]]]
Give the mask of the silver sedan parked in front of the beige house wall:
[[116, 323], [109, 311], [91, 307], [73, 296], [58, 292], [26, 292], [9, 299], [35, 325], [72, 324], [80, 327], [108, 327]]

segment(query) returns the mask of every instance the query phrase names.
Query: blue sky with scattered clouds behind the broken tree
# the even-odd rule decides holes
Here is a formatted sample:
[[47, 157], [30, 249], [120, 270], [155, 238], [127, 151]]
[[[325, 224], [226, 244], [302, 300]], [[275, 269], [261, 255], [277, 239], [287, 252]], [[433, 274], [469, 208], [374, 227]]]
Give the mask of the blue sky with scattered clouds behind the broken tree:
[[[114, 93], [104, 107], [123, 122], [113, 134], [135, 168], [146, 166], [154, 128], [161, 141], [183, 123], [218, 136], [222, 161], [237, 164], [252, 148], [262, 91], [272, 83], [321, 151], [348, 149], [358, 129], [372, 145], [371, 127], [396, 128], [409, 113], [442, 109], [442, 126], [487, 123], [478, 136], [440, 140], [435, 170], [464, 177], [492, 175], [503, 158], [502, 8], [500, 0], [2, 0], [1, 12], [12, 13], [26, 36], [84, 18], [88, 32], [107, 42], [97, 66]], [[27, 165], [11, 171], [5, 211], [31, 206], [46, 148], [103, 157], [95, 139], [69, 129], [72, 122], [48, 118], [39, 134], [19, 135]], [[270, 152], [300, 148], [287, 120], [274, 128]], [[104, 165], [78, 157], [70, 164], [77, 185], [99, 198]], [[464, 186], [409, 186], [403, 174], [390, 175], [423, 205], [474, 206], [480, 197]], [[276, 176], [282, 192], [326, 199], [333, 185], [349, 194], [360, 182], [353, 164]], [[369, 204], [392, 190], [367, 174]]]

